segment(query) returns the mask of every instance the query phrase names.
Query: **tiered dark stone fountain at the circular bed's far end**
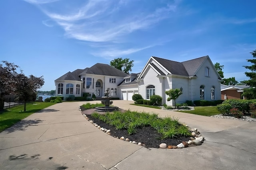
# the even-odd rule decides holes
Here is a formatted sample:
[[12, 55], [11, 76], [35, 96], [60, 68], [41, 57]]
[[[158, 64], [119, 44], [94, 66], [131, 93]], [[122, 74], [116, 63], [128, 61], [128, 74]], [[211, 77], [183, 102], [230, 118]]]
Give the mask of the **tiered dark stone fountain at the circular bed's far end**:
[[98, 112], [113, 112], [113, 111], [118, 111], [118, 107], [115, 106], [109, 106], [113, 103], [113, 101], [110, 101], [112, 97], [109, 96], [108, 89], [106, 90], [107, 92], [105, 93], [105, 96], [102, 97], [101, 103], [104, 104], [105, 106], [101, 107], [96, 107], [96, 111]]

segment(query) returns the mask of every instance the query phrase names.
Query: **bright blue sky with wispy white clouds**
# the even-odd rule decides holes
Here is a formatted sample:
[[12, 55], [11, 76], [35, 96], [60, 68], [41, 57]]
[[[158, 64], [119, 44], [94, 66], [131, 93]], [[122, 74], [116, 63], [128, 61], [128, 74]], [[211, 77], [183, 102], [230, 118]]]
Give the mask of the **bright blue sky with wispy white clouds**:
[[157, 56], [178, 62], [209, 55], [224, 77], [248, 79], [256, 50], [255, 0], [1, 0], [0, 60], [40, 90], [68, 71], [114, 58], [134, 60], [133, 73]]

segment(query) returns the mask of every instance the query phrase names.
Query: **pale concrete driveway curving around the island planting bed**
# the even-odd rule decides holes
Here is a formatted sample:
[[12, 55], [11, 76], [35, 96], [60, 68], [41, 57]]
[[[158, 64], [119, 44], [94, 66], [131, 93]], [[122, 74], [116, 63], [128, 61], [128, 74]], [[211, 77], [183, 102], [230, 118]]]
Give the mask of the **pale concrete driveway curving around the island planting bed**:
[[[99, 102], [99, 101], [94, 101]], [[211, 118], [130, 105], [125, 110], [174, 116], [206, 141], [184, 149], [143, 148], [104, 134], [78, 107], [64, 102], [34, 113], [0, 133], [0, 170], [254, 170], [256, 122]]]

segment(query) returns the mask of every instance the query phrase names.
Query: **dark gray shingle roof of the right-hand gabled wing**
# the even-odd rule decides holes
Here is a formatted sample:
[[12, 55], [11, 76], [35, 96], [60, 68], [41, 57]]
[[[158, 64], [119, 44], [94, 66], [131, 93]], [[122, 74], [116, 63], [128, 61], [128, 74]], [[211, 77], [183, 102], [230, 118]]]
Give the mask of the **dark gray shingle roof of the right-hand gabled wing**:
[[[196, 71], [204, 62], [204, 60], [209, 56], [204, 56], [196, 58], [193, 60], [188, 60], [184, 62], [176, 62], [172, 60], [167, 60], [164, 58], [153, 57], [157, 62], [159, 62], [164, 68], [166, 68], [172, 74], [180, 76], [195, 76]], [[151, 63], [152, 64], [152, 63]], [[153, 65], [153, 64], [152, 64]], [[162, 75], [165, 75], [162, 73]]]

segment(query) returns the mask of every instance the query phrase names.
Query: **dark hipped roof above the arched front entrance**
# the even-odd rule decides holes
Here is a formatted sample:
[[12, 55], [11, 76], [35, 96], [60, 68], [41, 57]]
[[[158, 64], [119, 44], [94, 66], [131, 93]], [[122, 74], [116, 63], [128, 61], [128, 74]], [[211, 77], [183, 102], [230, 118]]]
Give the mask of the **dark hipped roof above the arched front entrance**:
[[92, 67], [85, 69], [82, 73], [80, 73], [80, 75], [81, 74], [97, 74], [115, 77], [125, 77], [128, 75], [125, 72], [118, 70], [117, 68], [114, 68], [108, 64], [101, 63], [94, 64]]

